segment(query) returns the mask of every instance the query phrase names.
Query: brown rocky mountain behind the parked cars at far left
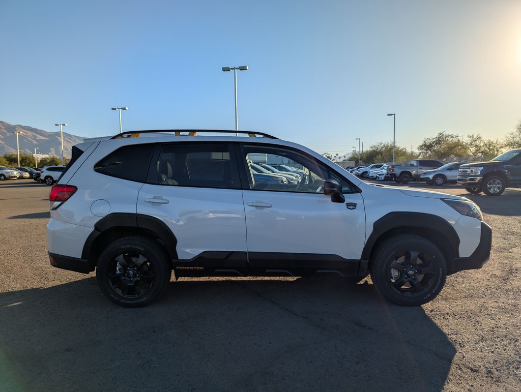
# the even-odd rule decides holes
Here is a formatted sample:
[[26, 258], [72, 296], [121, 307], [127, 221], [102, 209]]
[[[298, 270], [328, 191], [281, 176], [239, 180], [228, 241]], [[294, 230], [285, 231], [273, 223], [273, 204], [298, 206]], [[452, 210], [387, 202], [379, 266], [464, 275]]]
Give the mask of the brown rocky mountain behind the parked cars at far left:
[[[0, 121], [0, 155], [16, 154], [16, 134], [18, 135], [20, 150], [24, 154], [34, 154], [34, 147], [38, 147], [39, 154], [51, 154], [61, 157], [60, 132], [47, 132], [26, 125], [13, 125]], [[64, 132], [64, 156], [71, 156], [72, 146], [83, 142], [79, 136]]]

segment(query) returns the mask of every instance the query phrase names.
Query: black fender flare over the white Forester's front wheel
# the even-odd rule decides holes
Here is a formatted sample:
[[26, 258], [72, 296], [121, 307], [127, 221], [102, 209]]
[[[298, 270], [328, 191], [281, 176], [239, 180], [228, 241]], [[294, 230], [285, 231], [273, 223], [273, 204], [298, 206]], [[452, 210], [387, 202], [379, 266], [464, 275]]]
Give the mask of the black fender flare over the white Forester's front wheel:
[[[362, 260], [368, 260], [378, 238], [394, 229], [429, 229], [446, 238], [452, 257], [460, 257], [460, 237], [454, 227], [445, 219], [424, 212], [389, 212], [373, 224], [373, 231], [367, 238], [362, 250]], [[447, 260], [450, 262], [450, 260]]]

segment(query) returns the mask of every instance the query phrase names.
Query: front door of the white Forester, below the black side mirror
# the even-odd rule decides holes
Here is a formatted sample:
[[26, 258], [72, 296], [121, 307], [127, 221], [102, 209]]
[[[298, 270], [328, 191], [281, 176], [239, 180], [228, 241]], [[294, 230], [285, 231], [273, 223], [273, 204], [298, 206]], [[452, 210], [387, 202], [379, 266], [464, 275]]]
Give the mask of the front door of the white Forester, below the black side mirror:
[[[302, 168], [297, 185], [255, 182], [249, 162]], [[291, 148], [243, 144], [238, 148], [250, 268], [263, 274], [356, 274], [365, 243], [364, 203], [356, 188], [315, 158]], [[324, 195], [327, 178], [343, 185], [345, 201]]]

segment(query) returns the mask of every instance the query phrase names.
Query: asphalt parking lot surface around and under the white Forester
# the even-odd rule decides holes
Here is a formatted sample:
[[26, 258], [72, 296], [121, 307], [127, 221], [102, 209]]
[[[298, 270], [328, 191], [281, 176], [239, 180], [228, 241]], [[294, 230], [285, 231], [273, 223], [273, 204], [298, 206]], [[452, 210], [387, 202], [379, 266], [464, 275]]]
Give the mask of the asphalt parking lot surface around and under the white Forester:
[[49, 187], [1, 182], [0, 389], [520, 390], [521, 190], [427, 188], [474, 200], [493, 244], [423, 307], [370, 279], [212, 278], [125, 309], [49, 265]]

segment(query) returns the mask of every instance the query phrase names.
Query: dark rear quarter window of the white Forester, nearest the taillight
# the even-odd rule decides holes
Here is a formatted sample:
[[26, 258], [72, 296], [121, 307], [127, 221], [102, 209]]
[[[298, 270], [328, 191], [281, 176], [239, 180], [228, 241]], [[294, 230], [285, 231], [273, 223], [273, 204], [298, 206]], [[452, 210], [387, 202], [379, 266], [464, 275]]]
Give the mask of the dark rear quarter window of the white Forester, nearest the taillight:
[[97, 162], [94, 171], [120, 179], [145, 182], [153, 150], [153, 144], [120, 147]]

